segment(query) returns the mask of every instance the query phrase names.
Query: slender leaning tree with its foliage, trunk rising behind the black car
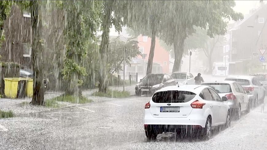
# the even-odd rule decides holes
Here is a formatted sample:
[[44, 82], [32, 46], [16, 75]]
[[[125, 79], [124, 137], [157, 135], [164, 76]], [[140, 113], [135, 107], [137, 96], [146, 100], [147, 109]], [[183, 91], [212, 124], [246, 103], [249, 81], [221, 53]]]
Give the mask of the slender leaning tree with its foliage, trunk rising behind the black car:
[[128, 2], [128, 13], [125, 14], [127, 26], [135, 32], [135, 35], [142, 34], [151, 37], [147, 74], [152, 72], [156, 37], [161, 30], [162, 18], [166, 14], [167, 8], [165, 6], [166, 2], [164, 1]]

